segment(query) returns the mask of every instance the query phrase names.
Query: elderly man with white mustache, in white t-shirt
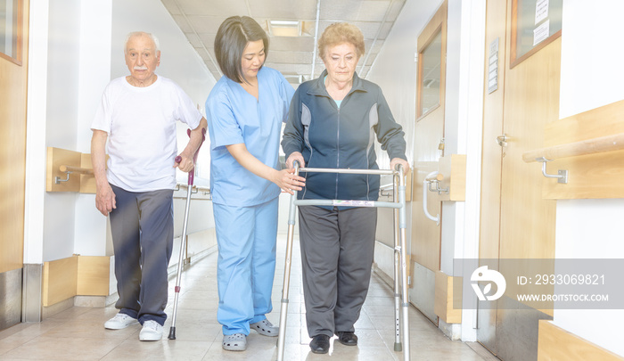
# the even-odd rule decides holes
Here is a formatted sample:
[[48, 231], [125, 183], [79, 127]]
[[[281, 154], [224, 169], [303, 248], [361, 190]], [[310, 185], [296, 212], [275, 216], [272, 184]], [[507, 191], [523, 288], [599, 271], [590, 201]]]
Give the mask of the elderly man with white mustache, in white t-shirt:
[[[175, 168], [193, 168], [207, 123], [176, 83], [154, 73], [160, 65], [156, 37], [130, 33], [124, 51], [130, 75], [106, 86], [91, 127], [95, 206], [111, 216], [119, 292], [119, 314], [104, 327], [119, 330], [138, 321], [139, 340], [160, 340], [167, 319]], [[177, 120], [193, 129], [179, 163]]]

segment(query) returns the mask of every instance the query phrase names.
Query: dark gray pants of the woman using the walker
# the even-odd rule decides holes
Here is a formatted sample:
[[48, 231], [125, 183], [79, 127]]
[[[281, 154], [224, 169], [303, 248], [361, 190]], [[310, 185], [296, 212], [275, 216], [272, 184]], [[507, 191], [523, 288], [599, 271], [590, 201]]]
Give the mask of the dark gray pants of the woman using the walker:
[[299, 208], [308, 335], [353, 332], [373, 266], [377, 209]]

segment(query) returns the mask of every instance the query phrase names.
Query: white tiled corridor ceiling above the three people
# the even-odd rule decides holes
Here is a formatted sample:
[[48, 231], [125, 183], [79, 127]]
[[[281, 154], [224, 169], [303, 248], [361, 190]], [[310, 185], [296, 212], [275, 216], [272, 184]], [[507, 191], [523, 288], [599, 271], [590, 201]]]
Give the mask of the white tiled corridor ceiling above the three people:
[[214, 42], [218, 27], [226, 18], [250, 16], [263, 27], [269, 20], [311, 21], [308, 34], [302, 37], [269, 36], [266, 65], [296, 82], [298, 76], [309, 80], [313, 67], [314, 78], [324, 70], [323, 62], [315, 55], [316, 24], [320, 37], [328, 25], [337, 21], [350, 22], [364, 34], [365, 54], [357, 66], [357, 74], [365, 78], [406, 0], [161, 1], [217, 79], [221, 78], [221, 72], [215, 60]]

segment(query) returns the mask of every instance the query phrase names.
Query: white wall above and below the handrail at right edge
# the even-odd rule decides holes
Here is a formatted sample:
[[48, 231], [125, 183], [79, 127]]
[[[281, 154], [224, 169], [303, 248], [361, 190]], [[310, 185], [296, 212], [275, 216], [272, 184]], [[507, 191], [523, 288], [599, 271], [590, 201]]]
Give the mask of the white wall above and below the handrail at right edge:
[[[564, 0], [560, 118], [624, 99], [620, 0]], [[600, 186], [600, 185], [596, 185]], [[624, 200], [557, 201], [557, 258], [624, 258]], [[554, 310], [554, 324], [624, 356], [623, 310]]]

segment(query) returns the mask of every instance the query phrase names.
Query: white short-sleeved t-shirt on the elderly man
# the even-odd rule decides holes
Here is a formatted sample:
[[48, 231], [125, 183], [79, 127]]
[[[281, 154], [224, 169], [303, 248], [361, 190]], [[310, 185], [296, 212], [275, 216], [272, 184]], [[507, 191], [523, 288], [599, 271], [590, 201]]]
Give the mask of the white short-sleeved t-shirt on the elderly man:
[[201, 113], [172, 80], [158, 76], [145, 87], [111, 80], [91, 125], [108, 133], [109, 183], [128, 192], [175, 188], [177, 120], [194, 129]]

